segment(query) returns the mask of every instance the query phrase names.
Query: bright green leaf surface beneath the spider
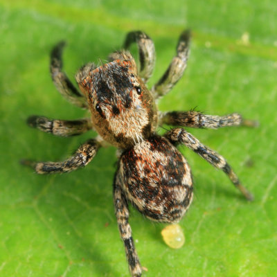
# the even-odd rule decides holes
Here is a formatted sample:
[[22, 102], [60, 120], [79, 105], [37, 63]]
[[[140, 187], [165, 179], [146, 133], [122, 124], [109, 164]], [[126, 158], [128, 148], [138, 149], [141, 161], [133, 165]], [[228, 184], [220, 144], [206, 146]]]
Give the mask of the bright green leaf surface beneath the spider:
[[74, 119], [84, 111], [55, 90], [49, 53], [67, 42], [64, 69], [105, 60], [129, 30], [145, 30], [157, 49], [154, 84], [193, 30], [184, 78], [163, 111], [238, 111], [260, 127], [190, 129], [220, 152], [255, 195], [246, 202], [230, 181], [190, 150], [195, 199], [180, 222], [181, 249], [163, 243], [164, 224], [131, 209], [145, 276], [276, 276], [276, 2], [0, 0], [0, 276], [129, 276], [112, 204], [116, 150], [101, 149], [82, 170], [39, 176], [23, 158], [62, 160], [93, 132], [58, 138], [26, 125], [39, 114]]

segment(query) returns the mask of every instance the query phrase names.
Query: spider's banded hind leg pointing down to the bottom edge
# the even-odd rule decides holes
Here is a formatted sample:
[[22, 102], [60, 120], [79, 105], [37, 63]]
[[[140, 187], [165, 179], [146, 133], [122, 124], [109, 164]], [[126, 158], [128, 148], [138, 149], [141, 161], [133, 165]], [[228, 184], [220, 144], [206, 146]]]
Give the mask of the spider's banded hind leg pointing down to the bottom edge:
[[129, 265], [129, 272], [132, 277], [140, 277], [142, 274], [141, 264], [139, 262], [138, 254], [134, 246], [132, 238], [132, 229], [129, 225], [129, 209], [127, 199], [123, 194], [118, 177], [115, 177], [114, 182], [114, 208], [116, 211], [116, 218], [120, 237], [123, 240], [126, 252], [126, 258]]

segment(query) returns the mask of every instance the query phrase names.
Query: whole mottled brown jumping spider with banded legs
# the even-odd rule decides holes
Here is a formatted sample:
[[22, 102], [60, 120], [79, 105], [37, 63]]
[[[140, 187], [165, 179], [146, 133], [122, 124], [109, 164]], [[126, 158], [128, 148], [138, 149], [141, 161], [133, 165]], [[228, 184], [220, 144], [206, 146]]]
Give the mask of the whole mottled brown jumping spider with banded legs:
[[109, 143], [118, 147], [120, 154], [114, 177], [114, 208], [130, 274], [141, 276], [143, 269], [128, 222], [128, 203], [150, 220], [181, 220], [193, 200], [193, 180], [190, 166], [177, 150], [177, 145], [186, 145], [222, 170], [246, 199], [252, 199], [251, 193], [242, 186], [224, 157], [203, 145], [182, 127], [170, 129], [163, 136], [157, 134], [157, 127], [167, 124], [217, 129], [253, 126], [255, 123], [243, 120], [240, 114], [210, 116], [197, 111], [158, 111], [157, 100], [172, 89], [186, 69], [190, 31], [181, 33], [177, 55], [150, 90], [145, 83], [154, 68], [154, 44], [145, 33], [134, 31], [127, 34], [123, 48], [129, 48], [134, 42], [139, 47], [139, 70], [129, 51], [116, 51], [109, 55], [107, 64], [82, 66], [75, 75], [80, 92], [62, 72], [64, 42], [53, 48], [51, 75], [57, 90], [78, 107], [89, 109], [91, 118], [51, 120], [44, 116], [30, 116], [28, 124], [56, 136], [82, 134], [89, 129], [96, 130], [99, 136], [82, 144], [65, 161], [24, 160], [23, 163], [39, 174], [69, 172], [87, 166], [101, 146]]

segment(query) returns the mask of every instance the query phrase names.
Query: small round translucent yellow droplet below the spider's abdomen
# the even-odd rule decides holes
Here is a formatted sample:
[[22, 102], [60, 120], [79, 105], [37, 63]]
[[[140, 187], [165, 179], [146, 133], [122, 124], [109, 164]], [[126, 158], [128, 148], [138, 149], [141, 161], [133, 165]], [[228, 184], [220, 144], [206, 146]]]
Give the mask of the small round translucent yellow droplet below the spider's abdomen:
[[163, 228], [161, 231], [161, 235], [163, 236], [164, 242], [171, 248], [181, 248], [185, 243], [185, 236], [179, 224], [166, 226], [166, 228]]

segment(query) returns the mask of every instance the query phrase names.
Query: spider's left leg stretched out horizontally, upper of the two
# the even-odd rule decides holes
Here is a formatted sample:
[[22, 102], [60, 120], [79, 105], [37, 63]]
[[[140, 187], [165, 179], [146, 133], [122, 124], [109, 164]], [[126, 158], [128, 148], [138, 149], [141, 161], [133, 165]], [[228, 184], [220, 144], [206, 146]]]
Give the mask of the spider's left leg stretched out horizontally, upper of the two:
[[45, 116], [30, 116], [27, 119], [30, 127], [37, 128], [42, 132], [51, 133], [55, 136], [75, 136], [92, 129], [91, 119], [79, 120], [50, 119]]

